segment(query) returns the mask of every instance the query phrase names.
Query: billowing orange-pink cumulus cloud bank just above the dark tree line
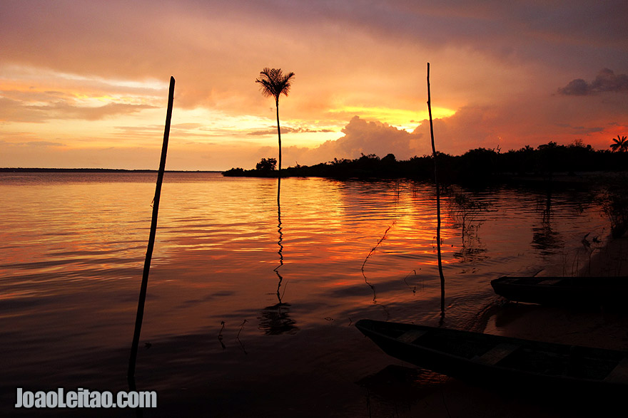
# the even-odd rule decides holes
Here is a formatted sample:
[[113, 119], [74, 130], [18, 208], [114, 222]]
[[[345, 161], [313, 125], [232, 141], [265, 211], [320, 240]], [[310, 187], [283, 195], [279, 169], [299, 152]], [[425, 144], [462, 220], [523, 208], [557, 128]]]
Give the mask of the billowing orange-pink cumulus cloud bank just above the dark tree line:
[[[560, 108], [561, 103], [555, 105]], [[479, 147], [509, 150], [523, 145], [536, 146], [549, 140], [569, 142], [574, 139], [572, 135], [586, 136], [599, 131], [599, 127], [558, 126], [555, 121], [552, 130], [539, 130], [530, 123], [530, 120], [542, 120], [543, 117], [543, 110], [535, 108], [532, 100], [500, 105], [467, 105], [450, 117], [433, 120], [436, 149], [452, 155]], [[542, 122], [544, 125], [549, 123], [547, 120]], [[313, 149], [285, 147], [285, 161], [288, 164], [299, 162], [309, 165], [334, 158], [358, 158], [361, 154], [384, 157], [388, 153], [393, 153], [398, 160], [407, 160], [415, 155], [432, 153], [429, 120], [422, 120], [415, 130], [407, 132], [383, 122], [371, 122], [355, 116], [342, 132], [345, 136], [323, 142]], [[259, 150], [258, 156], [268, 157], [275, 152], [275, 148], [265, 147]]]

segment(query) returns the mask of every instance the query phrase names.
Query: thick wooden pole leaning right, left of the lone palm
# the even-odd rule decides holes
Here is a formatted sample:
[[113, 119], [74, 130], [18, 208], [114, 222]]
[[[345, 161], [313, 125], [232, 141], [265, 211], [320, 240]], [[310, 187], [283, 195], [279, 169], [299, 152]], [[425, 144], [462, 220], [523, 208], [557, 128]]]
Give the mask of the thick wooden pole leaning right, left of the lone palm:
[[174, 77], [170, 78], [170, 90], [168, 92], [168, 111], [166, 113], [166, 128], [163, 130], [163, 145], [161, 145], [161, 161], [159, 162], [159, 172], [157, 174], [157, 185], [155, 188], [155, 199], [153, 201], [153, 218], [151, 220], [151, 234], [148, 236], [148, 248], [146, 249], [146, 259], [144, 260], [144, 271], [142, 273], [142, 285], [140, 288], [140, 298], [138, 301], [138, 311], [135, 320], [135, 331], [133, 332], [133, 344], [131, 345], [131, 357], [128, 359], [129, 379], [135, 376], [135, 363], [137, 350], [140, 342], [142, 330], [142, 319], [144, 316], [144, 303], [146, 302], [146, 288], [148, 287], [148, 270], [151, 268], [151, 258], [153, 257], [153, 247], [155, 246], [155, 235], [157, 233], [157, 213], [159, 211], [159, 197], [161, 197], [161, 183], [163, 182], [163, 172], [166, 169], [166, 152], [168, 152], [168, 137], [170, 136], [170, 120], [172, 117], [172, 103], [174, 100]]

